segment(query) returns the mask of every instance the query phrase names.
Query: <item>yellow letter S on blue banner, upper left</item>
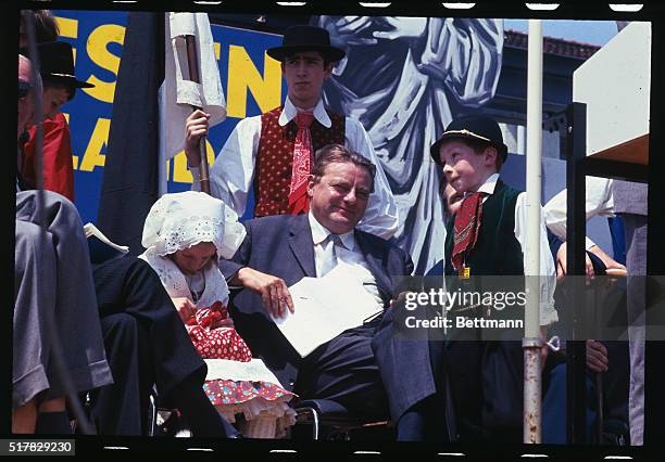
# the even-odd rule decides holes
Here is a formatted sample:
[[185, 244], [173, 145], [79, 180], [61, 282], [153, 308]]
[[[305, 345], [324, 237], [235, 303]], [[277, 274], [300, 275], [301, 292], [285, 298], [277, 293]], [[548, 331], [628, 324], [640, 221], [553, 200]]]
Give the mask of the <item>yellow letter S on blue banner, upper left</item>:
[[[120, 57], [109, 52], [106, 47], [111, 42], [123, 44], [125, 41], [125, 27], [117, 24], [104, 24], [99, 26], [88, 37], [88, 54], [90, 60], [98, 66], [111, 70], [117, 77], [120, 67]], [[100, 80], [95, 75], [88, 79], [88, 84], [95, 85], [95, 88], [84, 88], [83, 90], [90, 97], [103, 101], [104, 103], [113, 102], [113, 93], [115, 92], [115, 79], [111, 82]]]

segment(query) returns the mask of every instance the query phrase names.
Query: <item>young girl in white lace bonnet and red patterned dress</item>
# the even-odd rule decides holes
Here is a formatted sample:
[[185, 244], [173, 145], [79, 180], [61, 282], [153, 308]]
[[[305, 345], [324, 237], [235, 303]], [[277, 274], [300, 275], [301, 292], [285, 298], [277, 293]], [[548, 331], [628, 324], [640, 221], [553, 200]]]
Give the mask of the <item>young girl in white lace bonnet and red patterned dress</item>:
[[[279, 437], [294, 423], [287, 401], [293, 396], [233, 329], [228, 286], [217, 258], [230, 258], [244, 227], [222, 201], [195, 191], [165, 194], [143, 228], [147, 251], [139, 257], [158, 272], [199, 354], [206, 359], [204, 390], [231, 423], [250, 437]], [[212, 372], [211, 372], [212, 371]], [[241, 376], [243, 380], [234, 380]], [[247, 378], [251, 380], [247, 380]]]

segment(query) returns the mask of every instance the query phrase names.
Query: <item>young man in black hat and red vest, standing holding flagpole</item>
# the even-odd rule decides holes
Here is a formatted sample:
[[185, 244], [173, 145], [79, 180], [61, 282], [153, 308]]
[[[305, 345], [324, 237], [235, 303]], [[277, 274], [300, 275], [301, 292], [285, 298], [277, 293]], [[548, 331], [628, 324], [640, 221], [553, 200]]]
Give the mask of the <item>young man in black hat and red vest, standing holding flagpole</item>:
[[[238, 216], [244, 214], [251, 189], [255, 217], [306, 214], [314, 152], [327, 144], [343, 144], [377, 166], [375, 189], [360, 229], [384, 239], [392, 236], [398, 227], [397, 205], [369, 137], [357, 120], [327, 110], [321, 99], [324, 81], [344, 52], [330, 46], [326, 29], [299, 25], [286, 29], [283, 44], [268, 49], [267, 54], [281, 62], [286, 101], [236, 126], [211, 168], [211, 193]], [[185, 153], [197, 189], [198, 143], [208, 132], [208, 115], [195, 112], [186, 129]]]

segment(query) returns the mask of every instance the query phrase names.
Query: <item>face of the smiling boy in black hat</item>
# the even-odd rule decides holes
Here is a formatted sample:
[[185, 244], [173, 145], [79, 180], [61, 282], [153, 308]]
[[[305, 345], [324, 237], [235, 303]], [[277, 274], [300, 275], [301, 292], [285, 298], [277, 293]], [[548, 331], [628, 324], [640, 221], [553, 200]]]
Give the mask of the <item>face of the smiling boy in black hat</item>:
[[441, 143], [439, 156], [448, 184], [461, 193], [478, 191], [497, 172], [497, 150], [491, 146], [477, 153], [465, 142], [453, 139]]

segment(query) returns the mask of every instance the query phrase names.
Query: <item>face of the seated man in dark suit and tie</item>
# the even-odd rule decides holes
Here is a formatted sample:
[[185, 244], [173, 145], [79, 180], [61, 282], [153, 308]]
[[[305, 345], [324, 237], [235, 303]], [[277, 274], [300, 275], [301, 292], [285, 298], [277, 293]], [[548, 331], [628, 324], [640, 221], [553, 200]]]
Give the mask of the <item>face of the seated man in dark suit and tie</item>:
[[335, 234], [351, 231], [365, 215], [372, 176], [352, 163], [329, 164], [323, 177], [310, 180], [308, 193], [314, 218]]

